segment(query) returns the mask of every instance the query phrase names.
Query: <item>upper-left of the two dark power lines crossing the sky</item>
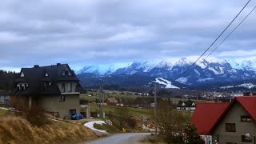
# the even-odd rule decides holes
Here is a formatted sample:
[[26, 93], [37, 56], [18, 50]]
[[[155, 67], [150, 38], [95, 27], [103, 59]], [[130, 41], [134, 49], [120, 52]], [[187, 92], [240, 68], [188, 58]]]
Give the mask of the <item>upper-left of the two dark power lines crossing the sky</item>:
[[[246, 5], [242, 7], [242, 10], [244, 10], [244, 9], [246, 8], [246, 6], [249, 4], [250, 1], [251, 1], [251, 0], [249, 0], [249, 1], [246, 3]], [[227, 28], [229, 28], [230, 25], [234, 22], [234, 20], [235, 20], [236, 18], [238, 18], [238, 15], [242, 13], [242, 10], [239, 11], [239, 13], [233, 18], [233, 20], [230, 22], [230, 24], [229, 24], [228, 26], [226, 26], [226, 28], [222, 31], [222, 33], [218, 35], [218, 38], [220, 38], [220, 37], [222, 36], [222, 34], [227, 30]], [[191, 68], [192, 66], [194, 66], [194, 64], [195, 64], [196, 62], [198, 62], [198, 60], [199, 60], [200, 58], [202, 58], [202, 56], [203, 56], [204, 54], [206, 54], [206, 51], [209, 50], [210, 47], [214, 45], [214, 43], [218, 40], [218, 38], [216, 38], [216, 39], [214, 40], [214, 42], [211, 43], [211, 45], [200, 55], [200, 57], [199, 57], [189, 68], [187, 68], [182, 74], [180, 74], [177, 78], [175, 78], [175, 81], [176, 81], [178, 78], [181, 78], [181, 76], [182, 76], [183, 74], [185, 74], [187, 70], [190, 70], [190, 68]]]

